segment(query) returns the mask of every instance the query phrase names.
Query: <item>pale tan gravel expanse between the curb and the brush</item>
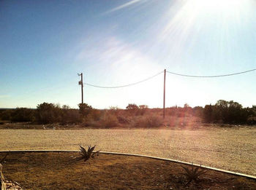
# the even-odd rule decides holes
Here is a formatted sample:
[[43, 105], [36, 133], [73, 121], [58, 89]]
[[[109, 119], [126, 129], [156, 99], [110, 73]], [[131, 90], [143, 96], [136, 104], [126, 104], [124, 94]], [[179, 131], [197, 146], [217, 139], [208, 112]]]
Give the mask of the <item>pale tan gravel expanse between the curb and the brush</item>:
[[0, 130], [0, 150], [78, 150], [146, 154], [256, 175], [256, 128], [198, 130]]

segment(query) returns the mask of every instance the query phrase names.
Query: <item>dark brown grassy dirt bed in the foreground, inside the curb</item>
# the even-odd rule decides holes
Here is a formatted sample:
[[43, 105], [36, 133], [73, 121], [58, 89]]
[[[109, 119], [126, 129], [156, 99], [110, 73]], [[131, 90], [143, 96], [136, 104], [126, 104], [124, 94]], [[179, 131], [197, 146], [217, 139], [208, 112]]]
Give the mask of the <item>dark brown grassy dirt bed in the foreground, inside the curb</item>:
[[256, 189], [255, 180], [213, 170], [187, 184], [175, 162], [111, 154], [72, 162], [75, 157], [78, 152], [10, 153], [3, 173], [23, 189]]

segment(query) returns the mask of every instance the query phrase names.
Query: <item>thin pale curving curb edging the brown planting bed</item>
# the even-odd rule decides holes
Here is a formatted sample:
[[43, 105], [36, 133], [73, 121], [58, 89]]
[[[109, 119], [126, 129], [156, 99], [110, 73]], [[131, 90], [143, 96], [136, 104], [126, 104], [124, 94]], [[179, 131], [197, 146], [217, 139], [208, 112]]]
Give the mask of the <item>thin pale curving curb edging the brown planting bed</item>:
[[[14, 151], [0, 151], [1, 152], [79, 152], [79, 151], [74, 151], [74, 150], [14, 150]], [[110, 152], [110, 151], [100, 151], [99, 154], [115, 154], [115, 155], [122, 155], [122, 156], [133, 156], [133, 157], [146, 157], [146, 158], [151, 158], [151, 159], [159, 159], [159, 160], [165, 160], [165, 161], [169, 161], [169, 162], [176, 162], [176, 163], [181, 163], [184, 165], [192, 165], [192, 163], [189, 162], [183, 162], [183, 161], [179, 161], [176, 159], [166, 159], [166, 158], [161, 158], [161, 157], [151, 157], [151, 156], [147, 156], [147, 155], [143, 155], [143, 154], [129, 154], [129, 153], [121, 153], [121, 152]], [[194, 164], [195, 166], [200, 166], [197, 164]], [[222, 173], [229, 173], [232, 175], [238, 175], [238, 176], [242, 176], [242, 177], [246, 177], [246, 178], [251, 178], [256, 180], [256, 176], [254, 175], [247, 175], [244, 173], [236, 173], [233, 171], [229, 171], [229, 170], [222, 170], [216, 167], [208, 167], [205, 165], [201, 165], [201, 167], [205, 167], [209, 170], [215, 170], [215, 171], [219, 171]]]

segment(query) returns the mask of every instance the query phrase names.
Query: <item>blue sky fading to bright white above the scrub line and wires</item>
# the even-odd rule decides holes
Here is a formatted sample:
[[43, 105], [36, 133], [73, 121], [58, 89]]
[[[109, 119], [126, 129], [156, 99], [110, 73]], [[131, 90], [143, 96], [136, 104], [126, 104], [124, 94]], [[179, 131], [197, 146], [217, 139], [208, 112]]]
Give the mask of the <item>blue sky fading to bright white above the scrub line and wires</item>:
[[[256, 68], [255, 0], [0, 1], [0, 108], [78, 108], [78, 82], [131, 84], [166, 69], [211, 76]], [[84, 85], [94, 108], [162, 107], [163, 79]], [[166, 106], [256, 105], [256, 71], [166, 74]]]

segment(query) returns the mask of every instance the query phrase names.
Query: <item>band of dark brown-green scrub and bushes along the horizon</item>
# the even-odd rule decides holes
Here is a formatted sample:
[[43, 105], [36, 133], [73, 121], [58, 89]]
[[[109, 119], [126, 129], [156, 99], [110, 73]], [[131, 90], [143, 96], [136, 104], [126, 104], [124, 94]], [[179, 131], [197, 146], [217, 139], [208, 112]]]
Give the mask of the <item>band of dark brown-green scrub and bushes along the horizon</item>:
[[171, 126], [173, 121], [181, 118], [196, 117], [200, 122], [221, 124], [256, 124], [256, 106], [243, 108], [234, 101], [218, 100], [215, 105], [194, 108], [185, 104], [184, 107], [166, 108], [165, 119], [162, 119], [162, 108], [148, 108], [146, 105], [129, 104], [126, 109], [110, 107], [99, 110], [86, 103], [80, 103], [79, 109], [59, 106], [53, 103], [41, 103], [36, 109], [15, 108], [0, 110], [0, 119], [12, 122], [32, 122], [38, 124], [81, 124], [91, 127], [160, 127]]

